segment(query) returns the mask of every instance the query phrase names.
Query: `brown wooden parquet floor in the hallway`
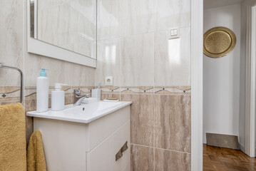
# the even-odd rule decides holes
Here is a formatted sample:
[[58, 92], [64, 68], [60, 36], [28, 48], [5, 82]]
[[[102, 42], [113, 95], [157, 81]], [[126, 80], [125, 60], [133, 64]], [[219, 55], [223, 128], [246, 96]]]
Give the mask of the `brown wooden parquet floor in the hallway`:
[[256, 171], [256, 158], [240, 150], [203, 145], [204, 171]]

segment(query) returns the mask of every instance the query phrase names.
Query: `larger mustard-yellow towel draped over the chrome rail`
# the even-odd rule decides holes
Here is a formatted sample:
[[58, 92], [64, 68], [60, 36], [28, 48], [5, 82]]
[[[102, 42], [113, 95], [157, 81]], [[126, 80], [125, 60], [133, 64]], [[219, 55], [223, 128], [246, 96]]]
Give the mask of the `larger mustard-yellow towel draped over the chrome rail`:
[[0, 105], [0, 170], [26, 171], [26, 125], [21, 103]]

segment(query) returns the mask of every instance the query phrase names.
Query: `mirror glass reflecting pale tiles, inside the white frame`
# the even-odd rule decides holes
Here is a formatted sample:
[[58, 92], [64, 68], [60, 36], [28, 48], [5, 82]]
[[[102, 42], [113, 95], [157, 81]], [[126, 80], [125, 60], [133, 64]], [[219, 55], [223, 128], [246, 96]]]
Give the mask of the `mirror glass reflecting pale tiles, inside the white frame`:
[[96, 59], [97, 0], [29, 0], [30, 37]]

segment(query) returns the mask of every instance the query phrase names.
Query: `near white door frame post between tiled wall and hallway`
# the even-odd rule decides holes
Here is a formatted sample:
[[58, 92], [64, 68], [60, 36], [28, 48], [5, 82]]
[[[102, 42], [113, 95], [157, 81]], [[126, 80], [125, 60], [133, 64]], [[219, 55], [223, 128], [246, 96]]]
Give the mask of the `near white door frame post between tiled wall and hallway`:
[[191, 170], [203, 170], [203, 0], [191, 0]]

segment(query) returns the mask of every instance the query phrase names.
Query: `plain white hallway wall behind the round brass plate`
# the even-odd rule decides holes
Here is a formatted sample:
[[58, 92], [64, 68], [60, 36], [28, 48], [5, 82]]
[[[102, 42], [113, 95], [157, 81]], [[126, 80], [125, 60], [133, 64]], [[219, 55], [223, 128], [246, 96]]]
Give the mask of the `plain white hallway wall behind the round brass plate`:
[[240, 4], [204, 11], [204, 32], [215, 26], [234, 31], [237, 44], [222, 58], [204, 56], [203, 141], [205, 133], [239, 134]]

